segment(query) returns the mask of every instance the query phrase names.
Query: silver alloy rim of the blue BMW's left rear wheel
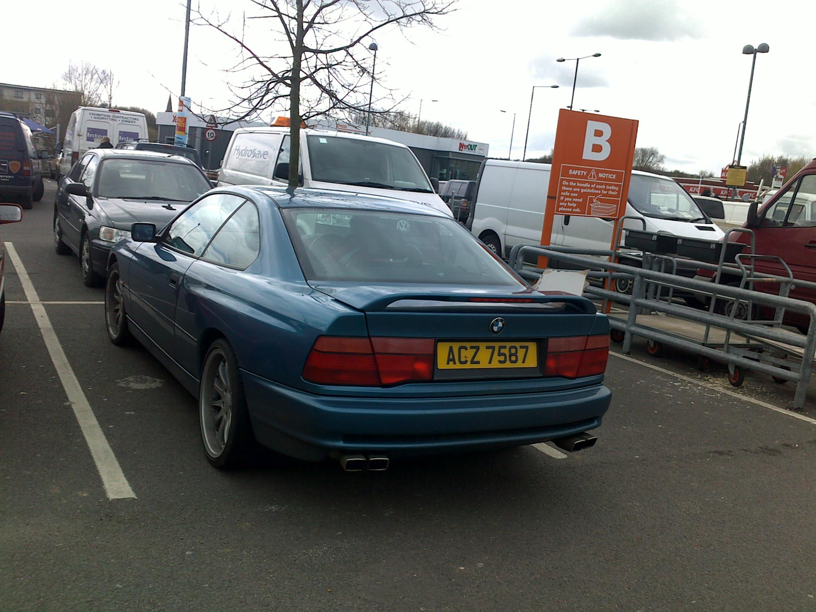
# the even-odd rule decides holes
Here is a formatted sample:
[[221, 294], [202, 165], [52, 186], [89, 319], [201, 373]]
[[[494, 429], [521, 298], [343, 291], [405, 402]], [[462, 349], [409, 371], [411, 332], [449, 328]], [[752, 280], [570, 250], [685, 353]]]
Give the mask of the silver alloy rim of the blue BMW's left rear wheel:
[[198, 411], [207, 454], [215, 458], [224, 452], [233, 424], [233, 389], [229, 384], [229, 366], [224, 353], [218, 348], [207, 357], [202, 383]]

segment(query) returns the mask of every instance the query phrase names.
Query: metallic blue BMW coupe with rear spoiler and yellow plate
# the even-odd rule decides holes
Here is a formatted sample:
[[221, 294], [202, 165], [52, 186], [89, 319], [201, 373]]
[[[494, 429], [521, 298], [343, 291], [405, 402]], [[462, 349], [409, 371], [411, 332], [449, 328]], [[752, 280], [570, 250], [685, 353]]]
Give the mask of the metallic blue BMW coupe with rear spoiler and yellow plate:
[[253, 438], [347, 469], [578, 449], [609, 407], [606, 317], [532, 290], [428, 206], [218, 188], [131, 229], [111, 251], [110, 339], [135, 336], [197, 397], [216, 467]]

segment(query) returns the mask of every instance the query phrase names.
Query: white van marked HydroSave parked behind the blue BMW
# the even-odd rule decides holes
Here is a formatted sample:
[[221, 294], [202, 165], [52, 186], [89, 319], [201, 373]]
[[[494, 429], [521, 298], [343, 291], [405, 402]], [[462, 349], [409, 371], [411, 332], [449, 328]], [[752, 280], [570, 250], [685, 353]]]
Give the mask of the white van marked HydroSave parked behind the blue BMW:
[[[285, 184], [289, 128], [242, 127], [233, 132], [218, 175], [222, 185]], [[304, 187], [399, 197], [452, 215], [405, 144], [334, 131], [300, 130]]]

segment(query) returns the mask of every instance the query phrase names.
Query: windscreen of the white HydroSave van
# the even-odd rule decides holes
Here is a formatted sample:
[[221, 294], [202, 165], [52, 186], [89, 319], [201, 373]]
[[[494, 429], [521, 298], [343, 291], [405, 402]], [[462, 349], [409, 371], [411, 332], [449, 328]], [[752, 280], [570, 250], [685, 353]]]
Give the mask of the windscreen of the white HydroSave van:
[[433, 193], [410, 149], [373, 140], [310, 134], [312, 179], [324, 183]]

